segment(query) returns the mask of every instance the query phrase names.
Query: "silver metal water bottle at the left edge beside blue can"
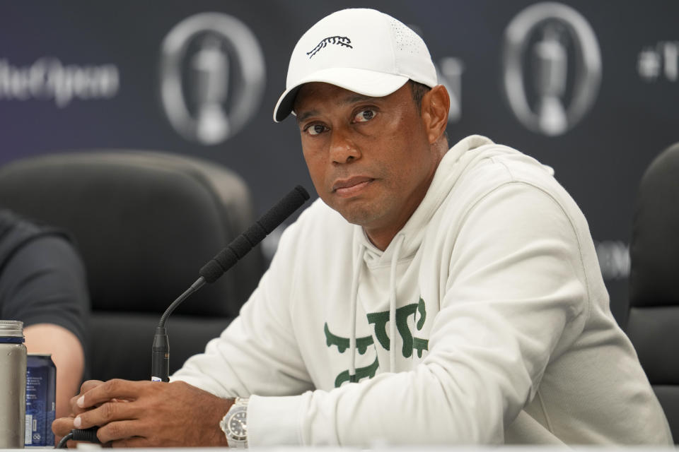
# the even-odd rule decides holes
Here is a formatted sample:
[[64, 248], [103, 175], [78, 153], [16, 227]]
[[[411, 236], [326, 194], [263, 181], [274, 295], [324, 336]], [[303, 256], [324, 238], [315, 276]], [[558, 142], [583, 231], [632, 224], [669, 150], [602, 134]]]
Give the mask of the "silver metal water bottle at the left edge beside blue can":
[[0, 320], [0, 448], [23, 448], [26, 347], [23, 322]]

